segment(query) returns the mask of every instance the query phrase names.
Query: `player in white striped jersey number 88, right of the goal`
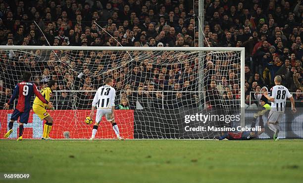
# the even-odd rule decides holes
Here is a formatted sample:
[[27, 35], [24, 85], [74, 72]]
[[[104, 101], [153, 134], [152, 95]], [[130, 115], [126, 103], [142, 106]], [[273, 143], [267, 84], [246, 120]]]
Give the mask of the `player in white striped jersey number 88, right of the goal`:
[[265, 92], [264, 96], [271, 102], [267, 125], [268, 128], [274, 132], [273, 139], [278, 140], [278, 134], [280, 132], [279, 122], [284, 114], [286, 98], [291, 100], [293, 112], [296, 112], [297, 109], [295, 108], [295, 100], [293, 96], [286, 87], [281, 85], [281, 77], [276, 76], [274, 81], [276, 86], [271, 88], [270, 96], [268, 96], [268, 92]]

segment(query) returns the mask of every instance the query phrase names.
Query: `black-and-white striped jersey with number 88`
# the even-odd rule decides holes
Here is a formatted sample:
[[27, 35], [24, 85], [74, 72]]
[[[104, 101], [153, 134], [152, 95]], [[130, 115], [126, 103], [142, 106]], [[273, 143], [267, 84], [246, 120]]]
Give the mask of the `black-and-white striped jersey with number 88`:
[[270, 97], [275, 100], [271, 102], [271, 108], [276, 108], [278, 112], [285, 110], [286, 99], [292, 97], [288, 89], [282, 85], [276, 85], [271, 88]]

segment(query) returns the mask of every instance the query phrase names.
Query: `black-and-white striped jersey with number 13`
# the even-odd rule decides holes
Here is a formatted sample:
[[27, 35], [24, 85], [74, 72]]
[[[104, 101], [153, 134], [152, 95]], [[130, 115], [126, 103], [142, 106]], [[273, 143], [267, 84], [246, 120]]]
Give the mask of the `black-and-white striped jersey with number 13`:
[[104, 85], [98, 89], [93, 100], [93, 106], [97, 109], [109, 109], [115, 106], [116, 90], [109, 85]]

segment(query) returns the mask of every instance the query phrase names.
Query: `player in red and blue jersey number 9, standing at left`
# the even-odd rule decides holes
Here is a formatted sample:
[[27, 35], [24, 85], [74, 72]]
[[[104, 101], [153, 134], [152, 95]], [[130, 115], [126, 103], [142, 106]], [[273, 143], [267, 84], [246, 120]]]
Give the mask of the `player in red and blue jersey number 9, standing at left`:
[[18, 103], [11, 115], [9, 124], [8, 124], [8, 132], [4, 135], [4, 138], [7, 138], [12, 133], [12, 127], [14, 121], [19, 119], [19, 137], [17, 140], [22, 140], [23, 134], [23, 124], [27, 124], [29, 118], [29, 112], [31, 109], [31, 97], [35, 94], [39, 97], [39, 99], [43, 102], [48, 104], [51, 108], [52, 103], [47, 101], [43, 95], [38, 91], [36, 85], [30, 82], [31, 79], [30, 72], [24, 72], [22, 75], [22, 82], [18, 83], [15, 87], [15, 90], [7, 103], [5, 103], [4, 109], [8, 109], [9, 105], [13, 103], [15, 98], [18, 96]]

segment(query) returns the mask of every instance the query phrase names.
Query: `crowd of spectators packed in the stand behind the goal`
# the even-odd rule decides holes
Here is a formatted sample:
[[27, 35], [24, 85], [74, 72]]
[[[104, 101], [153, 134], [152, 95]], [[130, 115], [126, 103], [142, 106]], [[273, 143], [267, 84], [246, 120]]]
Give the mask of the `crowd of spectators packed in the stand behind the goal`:
[[[291, 92], [303, 91], [303, 1], [204, 0], [204, 3], [204, 46], [245, 47], [247, 105], [254, 103], [249, 102], [250, 92], [259, 92], [263, 86], [270, 88], [277, 75], [282, 77], [282, 84]], [[198, 6], [199, 0], [0, 0], [0, 45], [198, 46], [201, 24], [197, 18]], [[64, 77], [67, 80], [59, 83], [58, 90], [69, 90], [72, 85], [77, 86], [77, 90], [96, 90], [103, 83], [104, 75], [86, 77], [88, 72], [93, 72], [88, 68], [94, 65], [94, 72], [98, 73], [113, 67], [117, 55], [108, 53], [86, 53], [89, 56], [84, 60], [71, 63], [81, 68], [79, 72], [58, 76], [63, 66], [62, 63], [57, 64], [52, 53], [48, 63], [41, 65], [35, 56], [1, 52], [1, 98], [9, 98], [21, 75], [18, 73], [22, 70], [20, 67], [27, 66], [36, 76], [35, 82], [39, 87], [50, 79]], [[83, 52], [76, 54], [75, 57], [81, 57]], [[5, 58], [8, 62], [3, 61]], [[103, 59], [109, 60], [111, 65], [99, 66]], [[239, 98], [239, 58], [220, 61], [216, 57], [205, 56], [204, 60], [203, 72], [208, 77], [204, 83], [207, 105], [211, 107], [222, 99]], [[140, 92], [152, 90], [166, 91], [164, 95], [169, 101], [182, 97], [195, 100], [197, 93], [188, 95], [181, 91], [198, 90], [197, 67], [195, 59], [165, 68], [139, 63], [125, 67], [128, 70], [121, 67], [119, 72], [107, 73], [106, 76], [116, 79], [117, 91], [129, 90], [121, 93], [121, 97], [134, 96], [130, 92], [134, 90], [138, 91], [136, 96], [146, 95], [143, 98], [161, 100], [164, 97], [163, 92]], [[219, 67], [229, 69], [226, 77], [216, 72]], [[133, 78], [127, 78], [128, 72], [133, 73]], [[12, 77], [7, 78], [7, 74]], [[144, 77], [148, 79], [137, 80]], [[175, 92], [168, 94], [169, 91]], [[294, 96], [296, 100], [303, 99], [302, 94]], [[67, 92], [60, 93], [63, 102], [66, 97], [69, 97]], [[81, 97], [90, 99], [92, 95], [87, 92]], [[161, 102], [156, 105], [161, 105]]]

